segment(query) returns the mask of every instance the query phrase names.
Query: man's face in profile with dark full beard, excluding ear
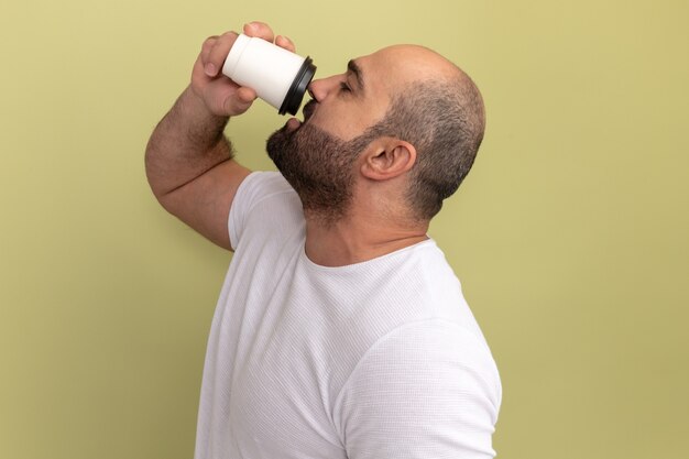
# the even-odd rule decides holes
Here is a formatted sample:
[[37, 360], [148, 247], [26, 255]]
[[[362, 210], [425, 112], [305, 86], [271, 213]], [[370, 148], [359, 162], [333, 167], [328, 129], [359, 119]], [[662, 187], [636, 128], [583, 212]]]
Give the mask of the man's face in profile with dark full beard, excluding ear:
[[313, 81], [304, 121], [291, 119], [269, 138], [269, 156], [305, 210], [338, 218], [351, 199], [357, 159], [373, 140], [364, 132], [387, 108], [373, 56], [350, 61], [346, 73]]

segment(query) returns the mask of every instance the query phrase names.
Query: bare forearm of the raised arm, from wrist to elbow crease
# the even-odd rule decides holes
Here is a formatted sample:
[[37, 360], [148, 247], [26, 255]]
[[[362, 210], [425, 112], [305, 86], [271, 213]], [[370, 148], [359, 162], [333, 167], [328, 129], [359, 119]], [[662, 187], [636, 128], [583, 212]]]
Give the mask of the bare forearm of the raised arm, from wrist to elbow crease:
[[146, 176], [158, 200], [232, 157], [223, 135], [228, 120], [211, 113], [190, 87], [179, 96], [146, 146]]

